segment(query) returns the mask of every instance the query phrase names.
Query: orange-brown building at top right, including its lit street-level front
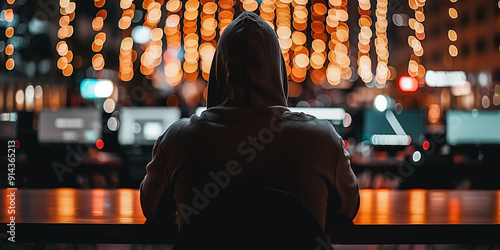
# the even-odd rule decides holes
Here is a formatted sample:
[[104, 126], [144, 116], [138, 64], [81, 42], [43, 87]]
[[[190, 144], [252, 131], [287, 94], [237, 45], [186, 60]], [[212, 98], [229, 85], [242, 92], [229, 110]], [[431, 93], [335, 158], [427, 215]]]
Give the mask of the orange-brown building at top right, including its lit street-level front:
[[[423, 62], [428, 70], [463, 71], [465, 87], [451, 87], [451, 106], [497, 109], [500, 104], [500, 3], [429, 1]], [[468, 90], [470, 89], [470, 90]], [[448, 92], [441, 104], [449, 107]], [[455, 98], [453, 98], [455, 96]], [[455, 105], [453, 105], [455, 99]]]

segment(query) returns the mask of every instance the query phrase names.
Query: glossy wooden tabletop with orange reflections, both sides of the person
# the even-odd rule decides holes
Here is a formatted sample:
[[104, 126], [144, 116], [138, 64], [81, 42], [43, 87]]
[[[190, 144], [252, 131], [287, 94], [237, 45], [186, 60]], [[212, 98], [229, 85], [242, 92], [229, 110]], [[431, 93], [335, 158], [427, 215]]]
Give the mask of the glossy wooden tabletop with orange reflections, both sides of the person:
[[[1, 189], [0, 221], [11, 214]], [[16, 223], [142, 224], [133, 189], [26, 189], [16, 191]], [[354, 220], [369, 224], [500, 224], [500, 190], [361, 190]]]

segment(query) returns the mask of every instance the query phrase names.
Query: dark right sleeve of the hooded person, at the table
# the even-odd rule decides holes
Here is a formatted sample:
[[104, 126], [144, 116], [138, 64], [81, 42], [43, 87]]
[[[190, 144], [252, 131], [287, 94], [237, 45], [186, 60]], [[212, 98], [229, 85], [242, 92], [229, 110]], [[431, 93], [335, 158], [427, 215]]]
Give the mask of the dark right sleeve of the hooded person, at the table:
[[336, 135], [341, 152], [334, 169], [334, 186], [328, 200], [328, 223], [352, 223], [359, 209], [358, 179], [351, 169], [349, 152], [344, 147], [340, 136]]

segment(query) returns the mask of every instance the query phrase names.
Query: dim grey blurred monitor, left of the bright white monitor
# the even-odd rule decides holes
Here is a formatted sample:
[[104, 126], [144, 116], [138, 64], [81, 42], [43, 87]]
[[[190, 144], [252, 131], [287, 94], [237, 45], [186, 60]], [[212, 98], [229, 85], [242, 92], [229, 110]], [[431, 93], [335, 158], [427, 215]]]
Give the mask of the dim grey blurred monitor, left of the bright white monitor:
[[100, 137], [101, 112], [97, 109], [40, 111], [38, 118], [40, 143], [95, 143]]

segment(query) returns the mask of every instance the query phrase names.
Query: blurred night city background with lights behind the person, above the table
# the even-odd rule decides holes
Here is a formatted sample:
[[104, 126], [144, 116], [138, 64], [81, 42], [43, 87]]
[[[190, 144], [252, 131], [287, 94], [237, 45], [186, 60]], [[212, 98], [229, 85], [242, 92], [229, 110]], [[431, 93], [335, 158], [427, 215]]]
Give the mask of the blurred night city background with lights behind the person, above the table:
[[361, 187], [500, 188], [500, 1], [0, 7], [1, 161], [15, 141], [18, 187], [137, 188], [156, 138], [203, 110], [217, 41], [248, 10], [279, 38], [289, 107], [334, 125]]

